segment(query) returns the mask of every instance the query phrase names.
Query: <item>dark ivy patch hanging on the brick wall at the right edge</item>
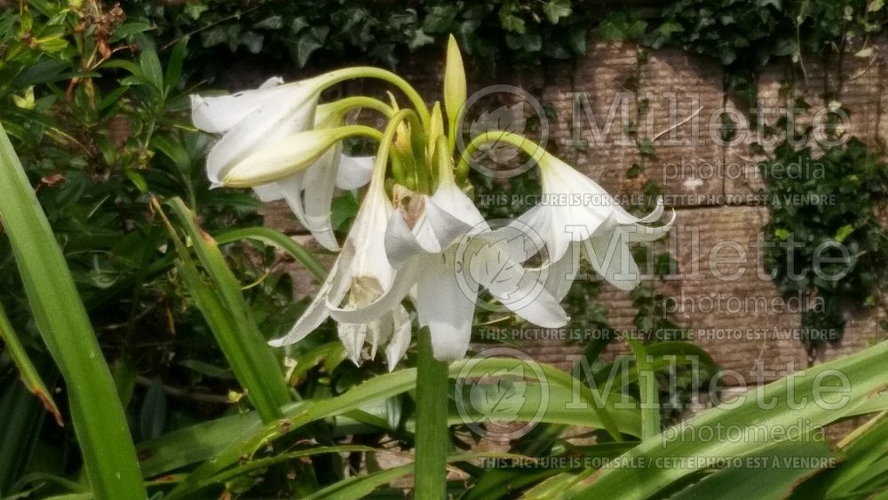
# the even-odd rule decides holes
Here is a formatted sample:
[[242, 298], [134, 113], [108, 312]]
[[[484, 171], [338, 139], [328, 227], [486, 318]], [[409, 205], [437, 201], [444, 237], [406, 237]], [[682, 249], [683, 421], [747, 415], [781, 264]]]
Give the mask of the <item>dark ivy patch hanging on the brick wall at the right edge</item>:
[[783, 142], [759, 166], [771, 212], [765, 269], [785, 296], [806, 299], [801, 339], [811, 352], [842, 337], [849, 308], [877, 305], [888, 232], [874, 208], [888, 165], [850, 139], [820, 156]]

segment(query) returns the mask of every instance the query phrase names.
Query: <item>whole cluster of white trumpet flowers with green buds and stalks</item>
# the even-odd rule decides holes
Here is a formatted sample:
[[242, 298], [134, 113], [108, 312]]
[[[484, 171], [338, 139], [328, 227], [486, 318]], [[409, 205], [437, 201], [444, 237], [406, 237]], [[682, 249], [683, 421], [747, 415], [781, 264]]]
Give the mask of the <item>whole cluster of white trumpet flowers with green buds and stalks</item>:
[[[368, 97], [320, 103], [325, 89], [360, 77], [393, 83], [412, 107], [401, 109], [394, 98], [391, 104]], [[466, 194], [472, 189], [464, 171], [472, 148], [490, 141], [509, 142], [531, 155], [541, 171], [543, 194], [607, 193], [511, 132], [488, 131], [458, 154], [455, 135], [465, 99], [463, 60], [452, 38], [444, 111], [435, 103], [430, 112], [408, 83], [372, 67], [346, 68], [296, 83], [273, 78], [254, 91], [193, 97], [194, 125], [221, 134], [207, 159], [210, 181], [252, 187], [263, 201], [285, 200], [321, 245], [339, 251], [312, 304], [272, 345], [296, 343], [332, 317], [355, 363], [361, 361], [365, 343], [370, 357], [385, 345], [392, 369], [411, 341], [412, 318], [404, 306], [408, 300], [418, 324], [431, 334], [435, 357], [451, 361], [468, 350], [482, 289], [525, 320], [559, 328], [568, 321], [559, 301], [575, 279], [580, 258], [622, 290], [638, 284], [629, 244], [670, 230], [671, 221], [646, 226], [661, 218], [662, 203], [645, 218], [616, 204], [541, 205], [512, 226], [488, 226]], [[384, 115], [385, 130], [345, 124], [345, 115], [356, 108]], [[359, 135], [377, 140], [375, 156], [343, 155], [342, 141]], [[351, 232], [340, 245], [330, 223], [335, 189], [364, 186]], [[528, 250], [533, 246], [527, 241], [530, 235], [520, 236], [517, 227], [532, 228], [543, 248]]]

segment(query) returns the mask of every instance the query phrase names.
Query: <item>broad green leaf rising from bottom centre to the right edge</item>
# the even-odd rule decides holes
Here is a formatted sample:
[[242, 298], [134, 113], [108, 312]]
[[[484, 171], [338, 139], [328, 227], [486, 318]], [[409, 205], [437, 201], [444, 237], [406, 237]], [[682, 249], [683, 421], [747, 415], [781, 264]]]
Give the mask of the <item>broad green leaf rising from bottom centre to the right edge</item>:
[[[842, 410], [834, 408], [834, 405], [844, 401], [845, 397], [847, 401], [844, 401], [844, 407], [851, 408], [860, 404], [861, 401], [866, 401], [872, 393], [884, 386], [884, 359], [886, 355], [888, 355], [888, 342], [882, 342], [860, 353], [807, 369], [804, 375], [794, 375], [765, 385], [755, 392], [745, 394], [745, 400], [741, 401], [741, 404], [736, 408], [717, 407], [707, 410], [689, 420], [686, 425], [695, 429], [708, 427], [712, 430], [731, 428], [732, 426], [744, 429], [750, 424], [765, 429], [776, 427], [787, 429], [798, 425], [799, 421], [804, 422], [812, 429], [821, 425], [829, 425], [836, 418], [842, 417]], [[842, 374], [842, 377], [847, 377], [850, 390], [842, 393], [821, 393], [820, 404], [815, 404], [813, 402], [815, 401], [813, 397], [814, 381], [822, 381], [824, 377], [827, 377], [821, 375], [824, 373], [828, 375]], [[828, 382], [834, 383], [836, 377], [837, 375], [830, 375]], [[791, 393], [787, 389], [789, 384], [793, 384]], [[790, 397], [794, 401], [789, 401]], [[790, 408], [790, 404], [798, 404], [802, 397], [806, 398], [808, 404], [800, 409]], [[759, 408], [759, 400], [773, 402], [773, 408]], [[667, 430], [666, 433], [670, 433], [670, 430]], [[673, 436], [675, 435], [673, 434]], [[686, 436], [683, 439], [666, 440], [665, 437], [664, 433], [645, 440], [625, 456], [632, 459], [642, 458], [646, 461], [655, 461], [662, 456], [740, 456], [773, 444], [773, 440], [767, 439], [696, 440], [692, 436]], [[700, 470], [700, 464], [702, 462], [686, 467], [613, 468], [596, 476], [594, 480], [583, 481], [559, 497], [619, 495], [626, 498], [647, 498], [663, 488], [668, 488], [687, 474]]]

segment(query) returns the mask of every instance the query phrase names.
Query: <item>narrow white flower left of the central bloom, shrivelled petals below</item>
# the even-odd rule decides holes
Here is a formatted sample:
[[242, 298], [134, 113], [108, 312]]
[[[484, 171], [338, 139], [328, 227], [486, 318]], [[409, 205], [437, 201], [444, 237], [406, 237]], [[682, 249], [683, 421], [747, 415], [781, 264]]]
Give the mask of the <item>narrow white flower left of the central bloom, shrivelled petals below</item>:
[[[295, 344], [321, 326], [329, 317], [330, 309], [366, 306], [375, 301], [382, 290], [392, 286], [396, 272], [385, 257], [384, 237], [385, 224], [393, 211], [392, 202], [385, 194], [384, 178], [379, 175], [370, 182], [352, 231], [346, 237], [327, 281], [289, 333], [269, 344]], [[400, 304], [392, 305], [375, 318], [340, 321], [337, 329], [349, 358], [356, 364], [361, 361], [365, 341], [370, 343], [371, 358], [376, 355], [378, 345], [387, 343], [385, 354], [390, 370], [407, 352], [412, 331], [409, 314]]]

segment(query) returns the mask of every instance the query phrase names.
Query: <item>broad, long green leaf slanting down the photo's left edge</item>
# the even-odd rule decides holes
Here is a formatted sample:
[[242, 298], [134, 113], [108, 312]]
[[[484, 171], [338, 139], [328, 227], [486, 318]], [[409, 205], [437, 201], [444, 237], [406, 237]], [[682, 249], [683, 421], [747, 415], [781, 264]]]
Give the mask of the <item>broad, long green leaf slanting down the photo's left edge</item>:
[[93, 493], [99, 499], [144, 498], [136, 449], [111, 373], [59, 243], [2, 127], [0, 220], [37, 330], [65, 379]]

